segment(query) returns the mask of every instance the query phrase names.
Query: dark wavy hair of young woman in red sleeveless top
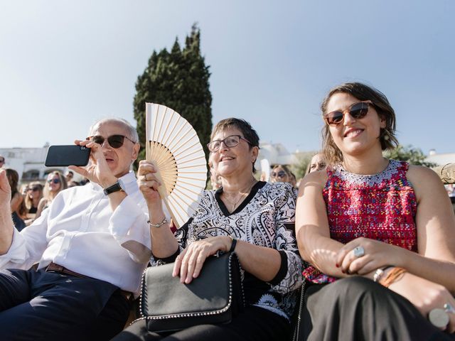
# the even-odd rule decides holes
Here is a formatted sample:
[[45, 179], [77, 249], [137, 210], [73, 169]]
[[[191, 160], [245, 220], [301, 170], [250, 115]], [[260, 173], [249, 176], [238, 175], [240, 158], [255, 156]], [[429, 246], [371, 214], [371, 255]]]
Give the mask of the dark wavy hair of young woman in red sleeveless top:
[[[376, 112], [378, 112], [378, 115], [382, 119], [385, 119], [385, 128], [381, 128], [379, 135], [379, 140], [383, 151], [386, 149], [395, 148], [398, 145], [398, 140], [395, 137], [395, 111], [390, 105], [387, 97], [385, 97], [385, 94], [382, 94], [382, 92], [376, 90], [374, 87], [370, 87], [363, 83], [344, 83], [333, 87], [333, 89], [331, 89], [323, 99], [323, 102], [321, 104], [322, 114], [327, 113], [327, 104], [333, 94], [338, 94], [340, 92], [350, 94], [360, 101], [369, 100], [371, 103], [373, 103], [373, 107], [375, 108]], [[324, 154], [327, 163], [335, 164], [341, 163], [343, 161], [343, 155], [340, 149], [336, 146], [335, 142], [333, 142], [328, 124], [325, 124], [322, 129], [322, 153]]]

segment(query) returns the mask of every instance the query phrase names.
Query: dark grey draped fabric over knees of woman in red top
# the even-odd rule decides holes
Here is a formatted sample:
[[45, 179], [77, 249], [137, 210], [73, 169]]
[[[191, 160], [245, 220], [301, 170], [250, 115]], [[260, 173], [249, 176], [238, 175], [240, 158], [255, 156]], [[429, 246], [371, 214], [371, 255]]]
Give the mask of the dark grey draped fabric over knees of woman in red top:
[[304, 300], [301, 341], [454, 340], [406, 298], [368, 278], [307, 286]]

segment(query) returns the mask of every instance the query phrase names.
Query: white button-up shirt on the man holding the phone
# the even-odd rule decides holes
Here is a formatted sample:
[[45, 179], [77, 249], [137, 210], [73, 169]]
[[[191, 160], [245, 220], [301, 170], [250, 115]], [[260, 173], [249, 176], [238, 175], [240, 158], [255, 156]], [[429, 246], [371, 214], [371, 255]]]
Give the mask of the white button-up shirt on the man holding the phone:
[[63, 190], [33, 224], [14, 229], [0, 269], [41, 269], [51, 261], [137, 293], [149, 256], [147, 208], [134, 173], [119, 178], [127, 197], [112, 212], [96, 183]]

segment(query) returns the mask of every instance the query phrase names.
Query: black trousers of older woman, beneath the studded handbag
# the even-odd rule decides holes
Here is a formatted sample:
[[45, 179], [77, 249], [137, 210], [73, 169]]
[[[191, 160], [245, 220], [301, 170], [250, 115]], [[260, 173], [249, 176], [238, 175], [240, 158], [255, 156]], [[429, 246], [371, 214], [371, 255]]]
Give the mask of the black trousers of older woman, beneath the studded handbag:
[[280, 341], [289, 340], [291, 325], [286, 318], [264, 308], [250, 306], [222, 325], [195, 325], [179, 332], [149, 332], [145, 320], [138, 320], [113, 341]]

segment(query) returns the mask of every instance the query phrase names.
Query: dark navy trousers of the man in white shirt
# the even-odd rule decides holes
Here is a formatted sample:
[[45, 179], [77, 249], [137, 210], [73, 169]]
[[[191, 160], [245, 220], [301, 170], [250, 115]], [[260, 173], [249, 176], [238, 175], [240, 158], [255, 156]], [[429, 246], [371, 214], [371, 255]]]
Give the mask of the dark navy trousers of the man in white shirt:
[[105, 281], [43, 270], [0, 271], [1, 340], [109, 340], [128, 313], [119, 288]]

